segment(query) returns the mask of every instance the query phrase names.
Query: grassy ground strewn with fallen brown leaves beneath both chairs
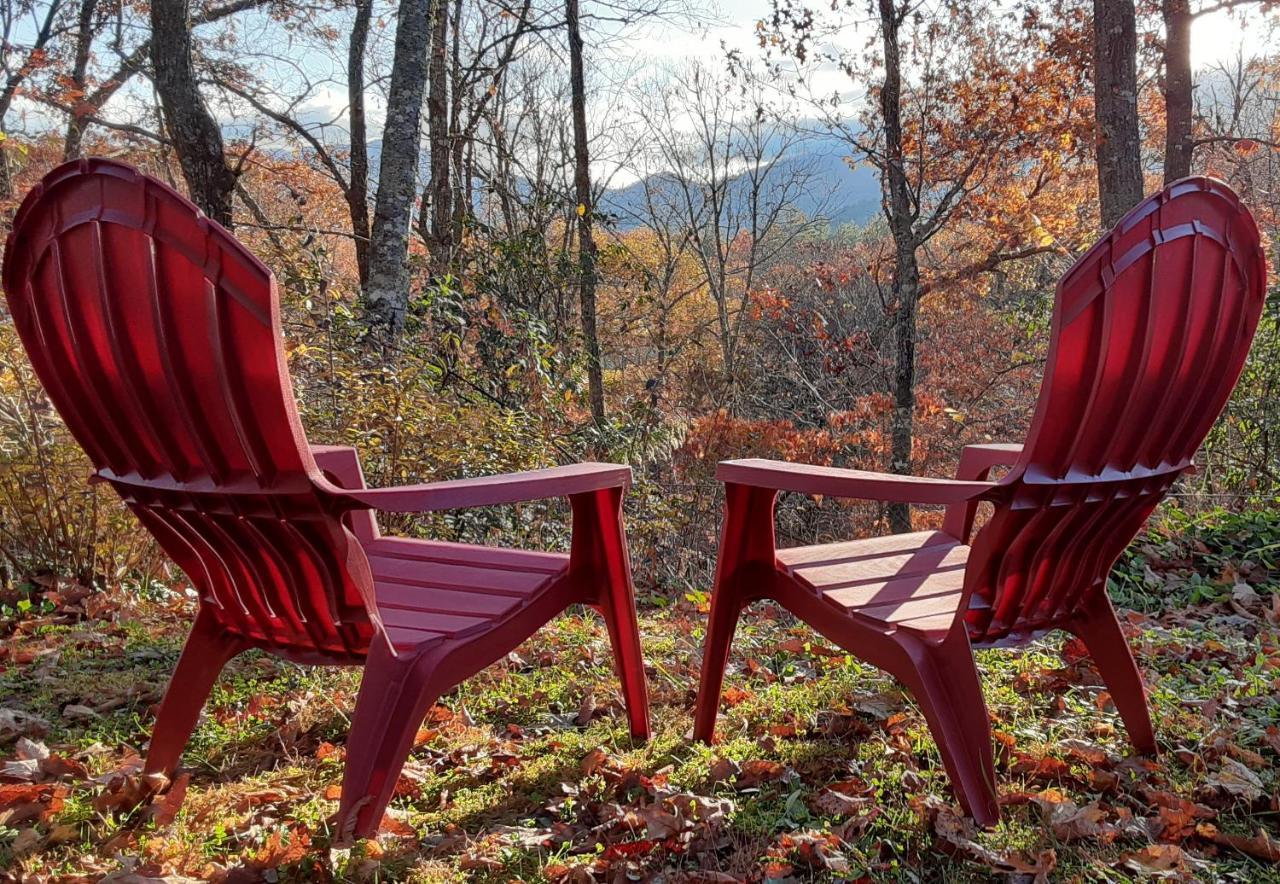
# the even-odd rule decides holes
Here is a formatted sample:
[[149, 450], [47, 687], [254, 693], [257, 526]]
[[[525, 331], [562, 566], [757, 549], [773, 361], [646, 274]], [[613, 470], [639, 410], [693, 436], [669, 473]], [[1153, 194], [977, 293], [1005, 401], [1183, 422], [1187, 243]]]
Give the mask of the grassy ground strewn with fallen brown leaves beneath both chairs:
[[[1164, 567], [1144, 573], [1185, 577]], [[358, 672], [243, 655], [184, 769], [147, 778], [191, 603], [45, 581], [0, 609], [0, 881], [1280, 881], [1280, 595], [1224, 574], [1216, 600], [1125, 614], [1160, 759], [1129, 751], [1075, 641], [979, 654], [991, 832], [899, 686], [772, 605], [744, 617], [719, 742], [691, 743], [694, 595], [641, 613], [646, 745], [603, 624], [570, 613], [442, 699], [383, 834], [347, 851], [329, 820]]]

